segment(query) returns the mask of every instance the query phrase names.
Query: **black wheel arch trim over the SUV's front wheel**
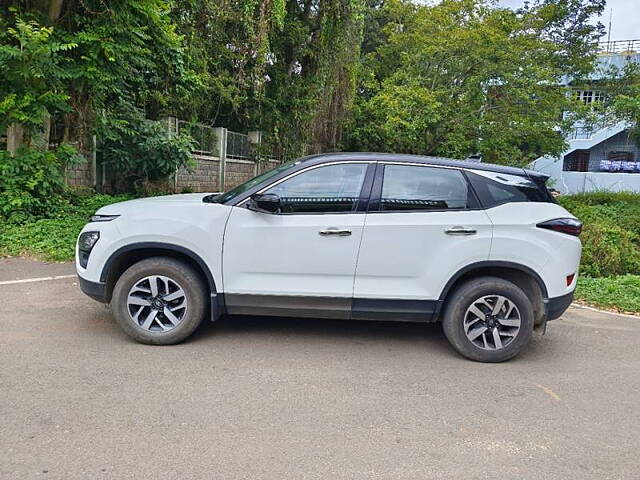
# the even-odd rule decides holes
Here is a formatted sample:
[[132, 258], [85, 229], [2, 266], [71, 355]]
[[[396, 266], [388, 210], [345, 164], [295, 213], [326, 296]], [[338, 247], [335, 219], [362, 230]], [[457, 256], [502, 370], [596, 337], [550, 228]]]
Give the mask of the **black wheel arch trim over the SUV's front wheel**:
[[217, 292], [215, 279], [206, 262], [192, 250], [180, 245], [162, 242], [139, 242], [125, 245], [113, 252], [100, 273], [100, 282], [105, 285], [106, 301], [111, 300], [113, 288], [118, 278], [134, 263], [151, 257], [171, 257], [182, 260], [192, 266], [206, 282], [209, 293]]

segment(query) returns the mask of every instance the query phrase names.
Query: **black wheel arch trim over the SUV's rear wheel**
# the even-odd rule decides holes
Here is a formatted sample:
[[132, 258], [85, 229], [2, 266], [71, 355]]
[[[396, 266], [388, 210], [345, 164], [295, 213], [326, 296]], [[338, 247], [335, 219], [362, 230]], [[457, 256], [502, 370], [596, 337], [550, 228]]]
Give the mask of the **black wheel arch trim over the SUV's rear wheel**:
[[444, 305], [449, 294], [458, 285], [481, 276], [499, 277], [516, 284], [531, 300], [535, 324], [544, 322], [545, 306], [549, 298], [547, 287], [542, 277], [532, 268], [515, 262], [488, 260], [472, 263], [458, 270], [446, 283], [439, 297]]

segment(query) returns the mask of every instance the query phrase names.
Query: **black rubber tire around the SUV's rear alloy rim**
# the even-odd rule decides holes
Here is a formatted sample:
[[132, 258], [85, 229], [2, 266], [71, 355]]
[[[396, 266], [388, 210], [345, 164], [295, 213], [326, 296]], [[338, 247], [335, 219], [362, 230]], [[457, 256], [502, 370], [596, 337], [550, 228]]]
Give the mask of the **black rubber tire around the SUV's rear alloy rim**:
[[[467, 337], [464, 327], [467, 309], [478, 299], [492, 295], [508, 299], [517, 307], [520, 316], [517, 334], [507, 337], [509, 343], [505, 342], [504, 346], [498, 349], [486, 349], [476, 345]], [[518, 355], [531, 340], [533, 323], [533, 307], [527, 295], [517, 285], [497, 277], [478, 277], [462, 284], [447, 298], [442, 317], [444, 334], [458, 353], [471, 360], [491, 363], [504, 362]], [[487, 330], [489, 335], [490, 332], [492, 329]], [[494, 343], [495, 348], [497, 342], [493, 341], [492, 336], [487, 338]], [[486, 346], [485, 343], [484, 347]]]

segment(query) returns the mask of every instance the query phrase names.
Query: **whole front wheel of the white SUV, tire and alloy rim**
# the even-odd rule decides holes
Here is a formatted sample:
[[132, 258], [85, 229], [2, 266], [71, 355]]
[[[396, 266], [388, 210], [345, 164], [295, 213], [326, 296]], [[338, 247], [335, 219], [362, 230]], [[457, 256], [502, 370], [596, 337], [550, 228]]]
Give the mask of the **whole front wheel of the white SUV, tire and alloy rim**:
[[134, 340], [171, 345], [187, 338], [206, 311], [207, 290], [189, 265], [168, 257], [129, 267], [113, 290], [111, 309]]

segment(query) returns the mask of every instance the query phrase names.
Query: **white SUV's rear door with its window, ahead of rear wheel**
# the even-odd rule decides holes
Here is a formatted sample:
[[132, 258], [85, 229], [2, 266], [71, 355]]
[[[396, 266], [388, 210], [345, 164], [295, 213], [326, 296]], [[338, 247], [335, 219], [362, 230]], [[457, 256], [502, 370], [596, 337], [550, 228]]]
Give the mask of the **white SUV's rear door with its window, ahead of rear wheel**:
[[353, 315], [425, 319], [459, 269], [489, 258], [491, 221], [457, 168], [381, 163], [371, 197]]

